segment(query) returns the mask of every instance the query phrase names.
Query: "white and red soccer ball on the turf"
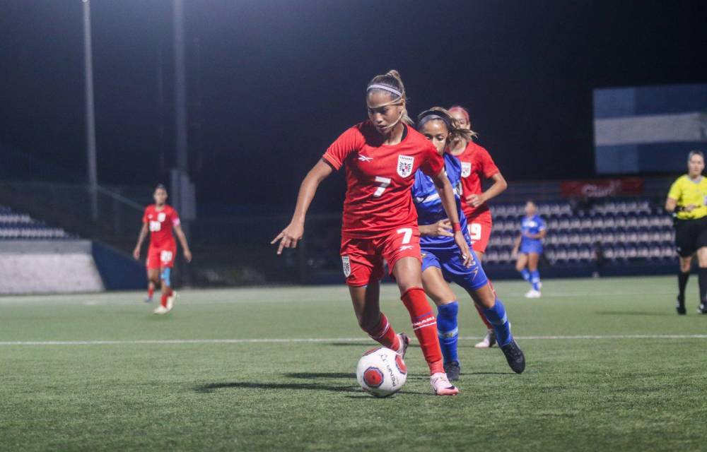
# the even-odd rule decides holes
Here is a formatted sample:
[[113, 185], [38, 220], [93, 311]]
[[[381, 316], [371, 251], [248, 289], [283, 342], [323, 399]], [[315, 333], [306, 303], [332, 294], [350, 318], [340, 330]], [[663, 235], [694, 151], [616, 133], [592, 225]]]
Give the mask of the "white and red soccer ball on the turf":
[[372, 396], [391, 396], [405, 384], [407, 366], [402, 357], [390, 348], [373, 348], [358, 360], [356, 379], [363, 391]]

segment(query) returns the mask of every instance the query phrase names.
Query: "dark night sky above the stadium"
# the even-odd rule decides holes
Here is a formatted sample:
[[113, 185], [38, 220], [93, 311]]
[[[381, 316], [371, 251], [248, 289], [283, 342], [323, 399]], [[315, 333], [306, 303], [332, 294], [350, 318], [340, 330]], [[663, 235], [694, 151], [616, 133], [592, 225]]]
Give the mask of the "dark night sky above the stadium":
[[[81, 1], [1, 6], [0, 144], [81, 176]], [[92, 8], [100, 182], [152, 185], [174, 160], [171, 1]], [[185, 16], [202, 203], [293, 205], [392, 68], [412, 114], [469, 107], [510, 181], [594, 174], [592, 88], [707, 82], [705, 1], [185, 0]], [[339, 206], [334, 179], [315, 208]]]

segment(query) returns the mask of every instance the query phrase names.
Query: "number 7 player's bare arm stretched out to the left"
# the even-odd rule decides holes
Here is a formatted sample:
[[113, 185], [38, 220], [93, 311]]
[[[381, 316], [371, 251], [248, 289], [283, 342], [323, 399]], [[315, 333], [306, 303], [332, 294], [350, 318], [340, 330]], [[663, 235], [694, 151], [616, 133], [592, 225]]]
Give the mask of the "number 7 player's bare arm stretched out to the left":
[[282, 254], [284, 248], [296, 248], [297, 242], [302, 239], [305, 232], [305, 216], [309, 209], [314, 195], [317, 193], [317, 187], [326, 179], [329, 174], [332, 174], [332, 167], [324, 160], [317, 162], [310, 172], [307, 173], [305, 179], [300, 184], [300, 191], [297, 195], [297, 205], [295, 213], [292, 215], [292, 220], [287, 227], [275, 237], [270, 244], [276, 244], [277, 254]]

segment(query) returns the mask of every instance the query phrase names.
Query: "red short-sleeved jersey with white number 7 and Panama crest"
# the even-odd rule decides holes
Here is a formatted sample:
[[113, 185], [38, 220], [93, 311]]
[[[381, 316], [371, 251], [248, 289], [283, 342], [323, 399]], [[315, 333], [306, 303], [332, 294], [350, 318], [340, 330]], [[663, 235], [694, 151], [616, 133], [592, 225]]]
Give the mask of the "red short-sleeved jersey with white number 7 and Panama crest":
[[341, 237], [373, 239], [404, 225], [417, 225], [410, 188], [418, 168], [436, 176], [444, 160], [421, 133], [405, 125], [407, 133], [396, 145], [370, 121], [345, 131], [322, 158], [339, 169], [346, 165], [346, 199]]

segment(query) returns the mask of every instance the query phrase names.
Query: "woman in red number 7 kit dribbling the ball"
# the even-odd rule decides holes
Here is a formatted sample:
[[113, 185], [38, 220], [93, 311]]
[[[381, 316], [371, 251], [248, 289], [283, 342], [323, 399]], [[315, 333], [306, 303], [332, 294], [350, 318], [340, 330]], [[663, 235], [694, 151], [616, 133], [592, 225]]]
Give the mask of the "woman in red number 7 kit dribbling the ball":
[[300, 186], [292, 221], [271, 243], [279, 242], [278, 254], [297, 246], [317, 187], [335, 169], [346, 166], [341, 262], [358, 324], [378, 343], [404, 355], [409, 338], [396, 334], [380, 312], [385, 259], [410, 313], [430, 368], [433, 391], [438, 396], [453, 396], [459, 390], [445, 374], [436, 319], [422, 288], [420, 232], [410, 195], [418, 168], [433, 178], [466, 266], [471, 263], [471, 253], [443, 160], [434, 146], [408, 125], [411, 121], [405, 102], [405, 88], [397, 71], [368, 83], [368, 121], [351, 127], [329, 146]]

